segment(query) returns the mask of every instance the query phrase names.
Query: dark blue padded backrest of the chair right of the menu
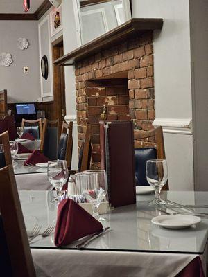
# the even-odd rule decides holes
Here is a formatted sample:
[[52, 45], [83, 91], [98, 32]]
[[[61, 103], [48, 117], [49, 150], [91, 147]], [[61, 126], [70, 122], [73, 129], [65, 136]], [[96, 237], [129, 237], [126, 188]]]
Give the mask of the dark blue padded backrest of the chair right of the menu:
[[146, 179], [146, 161], [157, 159], [155, 148], [135, 148], [135, 183], [136, 186], [150, 186]]

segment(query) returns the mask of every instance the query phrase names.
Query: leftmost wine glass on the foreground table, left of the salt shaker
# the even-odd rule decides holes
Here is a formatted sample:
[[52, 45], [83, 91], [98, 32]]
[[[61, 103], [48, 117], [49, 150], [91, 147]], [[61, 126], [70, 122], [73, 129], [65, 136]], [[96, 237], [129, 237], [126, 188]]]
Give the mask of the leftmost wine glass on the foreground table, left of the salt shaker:
[[67, 182], [69, 171], [67, 168], [67, 161], [57, 160], [48, 162], [48, 179], [56, 190], [57, 196], [53, 199], [54, 203], [59, 202], [62, 186]]

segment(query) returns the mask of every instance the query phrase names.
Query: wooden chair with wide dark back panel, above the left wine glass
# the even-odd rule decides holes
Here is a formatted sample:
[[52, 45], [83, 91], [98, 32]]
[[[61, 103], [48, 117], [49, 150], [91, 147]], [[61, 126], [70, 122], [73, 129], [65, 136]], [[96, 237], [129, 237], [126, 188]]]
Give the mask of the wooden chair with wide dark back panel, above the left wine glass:
[[57, 159], [58, 154], [58, 127], [59, 120], [44, 119], [40, 150], [51, 160]]

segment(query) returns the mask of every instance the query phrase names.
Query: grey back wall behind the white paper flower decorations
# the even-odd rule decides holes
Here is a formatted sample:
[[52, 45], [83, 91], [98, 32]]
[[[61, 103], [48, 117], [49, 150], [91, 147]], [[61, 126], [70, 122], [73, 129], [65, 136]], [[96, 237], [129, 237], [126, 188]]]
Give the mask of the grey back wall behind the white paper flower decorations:
[[[28, 49], [17, 48], [19, 37], [28, 39]], [[0, 90], [7, 89], [8, 102], [36, 102], [40, 98], [37, 21], [0, 21], [1, 52], [11, 53], [14, 60], [8, 67], [0, 66]], [[23, 66], [28, 66], [28, 74]]]

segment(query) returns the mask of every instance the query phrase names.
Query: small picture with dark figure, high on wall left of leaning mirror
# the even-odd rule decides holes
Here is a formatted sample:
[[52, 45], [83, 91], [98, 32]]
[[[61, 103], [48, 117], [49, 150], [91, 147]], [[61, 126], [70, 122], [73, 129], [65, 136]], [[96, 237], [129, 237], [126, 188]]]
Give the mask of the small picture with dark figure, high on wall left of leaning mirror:
[[54, 8], [50, 13], [51, 37], [62, 30], [62, 5]]

